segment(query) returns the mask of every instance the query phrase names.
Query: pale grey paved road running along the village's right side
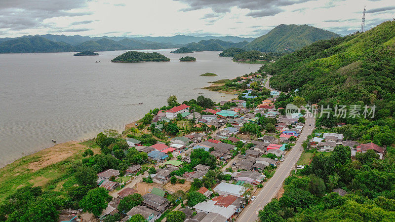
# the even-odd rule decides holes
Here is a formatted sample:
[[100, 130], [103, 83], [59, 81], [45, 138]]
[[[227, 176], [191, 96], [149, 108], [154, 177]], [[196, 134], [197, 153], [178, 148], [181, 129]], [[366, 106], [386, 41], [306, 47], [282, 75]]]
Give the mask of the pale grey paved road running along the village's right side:
[[[265, 87], [268, 86], [269, 81], [267, 81], [265, 84]], [[309, 124], [311, 124], [311, 126], [309, 126]], [[255, 200], [251, 201], [251, 203], [242, 211], [241, 215], [237, 217], [237, 221], [254, 222], [258, 220], [258, 212], [262, 210], [263, 207], [273, 198], [275, 198], [275, 195], [282, 186], [285, 178], [289, 176], [291, 170], [295, 169], [296, 162], [302, 154], [302, 143], [307, 139], [307, 136], [313, 132], [313, 129], [314, 117], [308, 116], [305, 127], [303, 127], [301, 134], [296, 140], [295, 146], [290, 151], [288, 151], [288, 153], [285, 155], [285, 160], [277, 167], [276, 173], [256, 195]]]

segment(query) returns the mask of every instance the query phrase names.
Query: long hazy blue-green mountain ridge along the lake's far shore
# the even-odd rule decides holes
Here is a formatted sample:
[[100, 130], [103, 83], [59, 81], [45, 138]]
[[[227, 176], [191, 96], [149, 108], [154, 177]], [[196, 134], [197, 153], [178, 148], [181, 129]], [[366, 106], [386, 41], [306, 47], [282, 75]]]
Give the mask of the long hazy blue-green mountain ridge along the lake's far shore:
[[[174, 37], [83, 37], [83, 36], [65, 36], [65, 35], [36, 35], [36, 36], [23, 36], [16, 38], [0, 38], [0, 53], [27, 53], [27, 52], [75, 52], [75, 51], [113, 51], [113, 50], [138, 50], [138, 49], [165, 49], [165, 48], [179, 48], [182, 47], [182, 43], [188, 39], [201, 39], [207, 37], [191, 37], [177, 35]], [[200, 40], [204, 44], [212, 44], [211, 46], [199, 45], [196, 50], [223, 50], [222, 45], [241, 44], [245, 45], [248, 43], [247, 40], [251, 38], [243, 37], [215, 37], [224, 38], [229, 40], [241, 39], [243, 41], [233, 43], [232, 41], [222, 41], [220, 39], [208, 39]], [[153, 39], [158, 41], [150, 41], [147, 39]], [[167, 43], [169, 41], [172, 43]], [[188, 43], [190, 43], [189, 41]], [[192, 42], [197, 44], [195, 42]], [[199, 49], [198, 49], [199, 48]], [[204, 49], [203, 49], [204, 48]]]

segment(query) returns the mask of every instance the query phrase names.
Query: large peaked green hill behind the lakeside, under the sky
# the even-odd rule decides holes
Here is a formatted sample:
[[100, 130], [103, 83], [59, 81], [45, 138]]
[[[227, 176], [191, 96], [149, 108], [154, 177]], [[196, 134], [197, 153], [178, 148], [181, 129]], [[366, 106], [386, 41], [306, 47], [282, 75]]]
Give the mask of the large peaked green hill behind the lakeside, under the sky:
[[261, 52], [292, 52], [317, 40], [333, 37], [339, 37], [339, 35], [308, 25], [281, 24], [269, 33], [246, 44], [243, 49]]

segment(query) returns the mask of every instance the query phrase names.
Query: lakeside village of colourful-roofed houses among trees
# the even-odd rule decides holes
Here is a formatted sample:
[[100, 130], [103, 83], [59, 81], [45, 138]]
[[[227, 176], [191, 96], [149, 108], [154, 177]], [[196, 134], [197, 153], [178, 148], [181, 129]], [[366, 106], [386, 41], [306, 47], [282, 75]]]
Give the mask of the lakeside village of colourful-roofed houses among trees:
[[[240, 84], [246, 81], [248, 86], [262, 89], [268, 79], [250, 74], [240, 80]], [[147, 126], [135, 123], [128, 130], [133, 132], [125, 136], [129, 150], [122, 151], [127, 155], [133, 149], [147, 159], [123, 172], [110, 168], [98, 173], [97, 186], [107, 189], [113, 199], [100, 215], [69, 214], [63, 215], [64, 221], [101, 221], [114, 215], [121, 216], [120, 221], [138, 221], [136, 215], [148, 222], [177, 221], [170, 219], [174, 217], [185, 222], [237, 221], [287, 158], [287, 152], [306, 127], [304, 110], [290, 118], [284, 115], [284, 108], [276, 108], [283, 93], [271, 90], [257, 104], [256, 99], [261, 97], [254, 91], [246, 89], [235, 100], [213, 103], [200, 111], [195, 104], [183, 103], [149, 113], [152, 116]], [[170, 124], [177, 127], [176, 132], [164, 134], [171, 132]], [[144, 136], [147, 134], [158, 140], [152, 140], [152, 135]], [[343, 139], [342, 134], [313, 132], [304, 141], [296, 169], [309, 164], [316, 152], [331, 152], [339, 145], [351, 148], [350, 158], [369, 149], [383, 158], [385, 147]], [[112, 152], [115, 157], [124, 158], [125, 155], [116, 152]], [[119, 204], [131, 196], [141, 196], [141, 202], [130, 209], [119, 209]]]

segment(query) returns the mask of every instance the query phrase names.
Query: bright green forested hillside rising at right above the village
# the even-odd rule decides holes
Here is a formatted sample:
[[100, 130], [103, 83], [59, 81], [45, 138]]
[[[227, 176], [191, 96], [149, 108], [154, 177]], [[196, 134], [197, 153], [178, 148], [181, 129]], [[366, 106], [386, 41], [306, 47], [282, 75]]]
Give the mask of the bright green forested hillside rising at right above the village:
[[321, 40], [270, 67], [272, 87], [299, 88], [310, 102], [372, 103], [395, 96], [395, 22], [353, 36]]

